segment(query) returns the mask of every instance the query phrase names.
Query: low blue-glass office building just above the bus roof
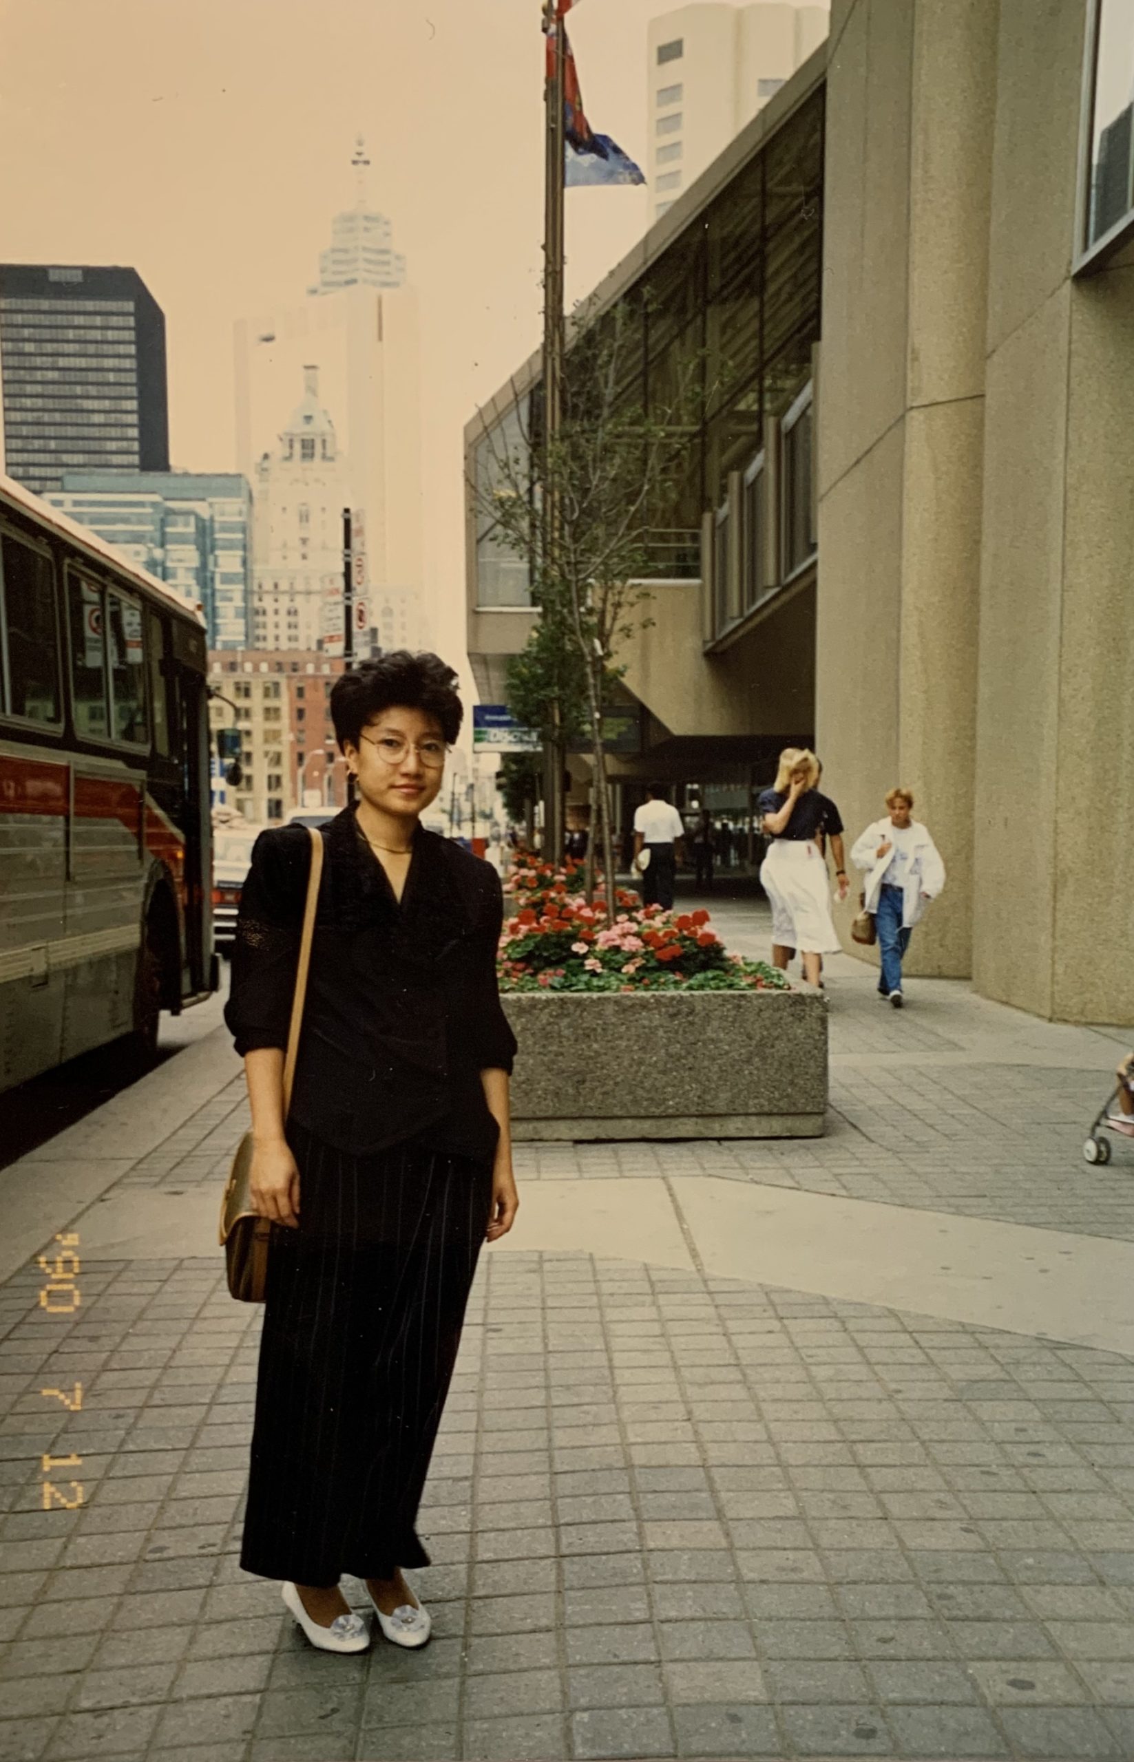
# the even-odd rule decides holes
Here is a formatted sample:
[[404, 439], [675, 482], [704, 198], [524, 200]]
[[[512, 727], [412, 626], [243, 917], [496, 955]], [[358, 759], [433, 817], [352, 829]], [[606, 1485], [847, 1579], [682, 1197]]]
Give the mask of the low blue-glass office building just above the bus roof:
[[249, 645], [252, 495], [242, 476], [69, 470], [46, 500], [198, 601], [210, 648]]

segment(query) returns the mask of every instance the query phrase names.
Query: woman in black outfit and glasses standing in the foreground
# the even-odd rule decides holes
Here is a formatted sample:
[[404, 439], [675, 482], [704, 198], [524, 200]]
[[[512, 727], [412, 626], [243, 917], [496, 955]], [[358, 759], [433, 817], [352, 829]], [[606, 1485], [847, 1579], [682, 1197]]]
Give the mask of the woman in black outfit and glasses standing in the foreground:
[[390, 1640], [429, 1639], [404, 1568], [429, 1565], [414, 1522], [480, 1246], [519, 1203], [501, 879], [420, 825], [460, 729], [455, 684], [437, 655], [400, 650], [332, 691], [358, 802], [321, 828], [287, 1119], [305, 826], [256, 840], [224, 1011], [252, 1107], [252, 1203], [272, 1219], [240, 1565], [280, 1579], [326, 1651], [370, 1642], [344, 1572]]

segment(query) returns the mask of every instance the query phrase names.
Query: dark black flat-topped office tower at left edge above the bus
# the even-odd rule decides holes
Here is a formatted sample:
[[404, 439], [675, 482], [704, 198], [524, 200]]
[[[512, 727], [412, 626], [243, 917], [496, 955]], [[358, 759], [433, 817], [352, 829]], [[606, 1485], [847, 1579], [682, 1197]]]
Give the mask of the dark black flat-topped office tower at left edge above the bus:
[[166, 321], [136, 270], [0, 264], [4, 469], [169, 470]]

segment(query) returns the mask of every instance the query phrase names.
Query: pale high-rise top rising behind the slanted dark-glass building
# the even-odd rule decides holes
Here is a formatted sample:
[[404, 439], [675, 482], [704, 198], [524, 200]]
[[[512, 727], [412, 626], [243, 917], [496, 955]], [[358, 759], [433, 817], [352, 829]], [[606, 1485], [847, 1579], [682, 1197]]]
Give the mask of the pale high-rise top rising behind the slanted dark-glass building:
[[702, 0], [649, 26], [653, 218], [663, 215], [827, 35], [827, 5]]

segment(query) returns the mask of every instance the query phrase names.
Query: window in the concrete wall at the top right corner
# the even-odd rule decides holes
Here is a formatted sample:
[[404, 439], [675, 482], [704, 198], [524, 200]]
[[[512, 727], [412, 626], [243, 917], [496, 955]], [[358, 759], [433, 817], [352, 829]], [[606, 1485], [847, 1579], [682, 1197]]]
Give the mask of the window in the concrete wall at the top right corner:
[[1093, 0], [1086, 35], [1079, 252], [1116, 247], [1134, 229], [1134, 9]]

